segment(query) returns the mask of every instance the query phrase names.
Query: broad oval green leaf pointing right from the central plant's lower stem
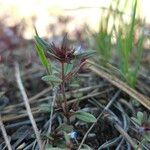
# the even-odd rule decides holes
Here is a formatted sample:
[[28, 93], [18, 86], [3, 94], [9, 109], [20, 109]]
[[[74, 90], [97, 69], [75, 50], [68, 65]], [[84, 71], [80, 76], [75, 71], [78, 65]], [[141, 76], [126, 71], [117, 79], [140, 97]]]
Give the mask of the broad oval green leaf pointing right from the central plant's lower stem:
[[85, 122], [96, 122], [96, 118], [92, 114], [84, 111], [77, 111], [74, 115], [76, 118]]

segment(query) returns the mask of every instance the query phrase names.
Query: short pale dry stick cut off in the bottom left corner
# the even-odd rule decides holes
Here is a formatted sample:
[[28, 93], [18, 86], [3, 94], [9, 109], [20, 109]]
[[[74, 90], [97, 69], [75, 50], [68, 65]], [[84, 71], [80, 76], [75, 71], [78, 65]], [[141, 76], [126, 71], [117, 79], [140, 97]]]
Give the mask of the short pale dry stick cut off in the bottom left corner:
[[7, 145], [8, 150], [12, 150], [11, 145], [10, 145], [10, 142], [9, 142], [9, 139], [8, 139], [7, 132], [6, 132], [5, 127], [4, 127], [4, 124], [3, 124], [3, 122], [2, 122], [1, 115], [0, 115], [0, 128], [1, 128], [2, 135], [3, 135], [3, 137], [4, 137], [4, 140], [5, 140], [5, 143], [6, 143], [6, 145]]

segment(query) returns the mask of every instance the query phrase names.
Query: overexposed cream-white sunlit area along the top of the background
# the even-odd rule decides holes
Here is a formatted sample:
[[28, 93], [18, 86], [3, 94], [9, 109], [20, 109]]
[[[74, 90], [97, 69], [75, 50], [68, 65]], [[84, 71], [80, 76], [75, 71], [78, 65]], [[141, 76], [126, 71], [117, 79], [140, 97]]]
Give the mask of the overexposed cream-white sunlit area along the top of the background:
[[[124, 1], [124, 0], [123, 0]], [[142, 2], [141, 2], [142, 1]], [[6, 26], [13, 26], [16, 23], [25, 23], [24, 37], [33, 37], [33, 25], [36, 26], [41, 36], [50, 36], [48, 27], [50, 24], [57, 28], [55, 34], [59, 34], [64, 26], [58, 23], [57, 16], [71, 17], [65, 28], [68, 32], [82, 28], [86, 23], [93, 30], [98, 29], [100, 20], [100, 7], [109, 7], [111, 0], [1, 0], [0, 19]], [[140, 8], [138, 15], [146, 18], [150, 23], [149, 6], [150, 1], [138, 0]], [[124, 6], [118, 6], [123, 8]], [[129, 9], [125, 12], [128, 16]], [[127, 19], [127, 18], [126, 18]]]

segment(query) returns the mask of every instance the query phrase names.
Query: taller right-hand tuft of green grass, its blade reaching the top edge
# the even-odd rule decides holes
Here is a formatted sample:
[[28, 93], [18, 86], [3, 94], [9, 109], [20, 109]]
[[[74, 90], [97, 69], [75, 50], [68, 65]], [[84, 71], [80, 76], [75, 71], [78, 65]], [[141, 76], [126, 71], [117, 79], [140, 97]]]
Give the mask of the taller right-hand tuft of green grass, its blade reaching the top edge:
[[137, 26], [136, 9], [137, 1], [135, 1], [133, 6], [130, 23], [124, 23], [124, 25], [119, 27], [116, 47], [117, 53], [119, 54], [119, 70], [123, 74], [123, 78], [125, 78], [126, 82], [131, 87], [134, 87], [136, 84], [144, 41], [144, 36], [142, 34], [137, 43], [135, 44], [134, 42], [135, 29]]

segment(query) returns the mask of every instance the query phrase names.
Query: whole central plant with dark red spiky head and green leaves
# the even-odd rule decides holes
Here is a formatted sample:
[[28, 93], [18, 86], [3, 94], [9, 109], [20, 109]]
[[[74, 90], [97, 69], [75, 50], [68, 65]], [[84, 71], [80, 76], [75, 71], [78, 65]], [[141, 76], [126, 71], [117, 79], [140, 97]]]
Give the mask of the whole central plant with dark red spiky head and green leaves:
[[[66, 97], [67, 84], [71, 83], [71, 79], [76, 76], [79, 69], [85, 65], [85, 60], [90, 57], [94, 51], [82, 51], [71, 48], [68, 44], [67, 35], [64, 36], [60, 46], [54, 43], [49, 44], [38, 36], [37, 31], [35, 44], [39, 59], [47, 71], [47, 75], [43, 76], [42, 80], [50, 84], [53, 88], [53, 93], [56, 94], [56, 104], [54, 108], [50, 108], [50, 111], [54, 109], [54, 112], [57, 112], [57, 114], [60, 114], [60, 116], [64, 118], [63, 124], [60, 124], [48, 137], [52, 136], [50, 137], [51, 143], [57, 146], [58, 144], [56, 144], [54, 139], [63, 132], [65, 133], [64, 138], [67, 139], [66, 145], [68, 145], [69, 140], [66, 133], [70, 135], [74, 130], [70, 122], [70, 117], [74, 116], [85, 122], [96, 121], [96, 118], [88, 112], [70, 110]], [[47, 107], [46, 111], [49, 112]]]

